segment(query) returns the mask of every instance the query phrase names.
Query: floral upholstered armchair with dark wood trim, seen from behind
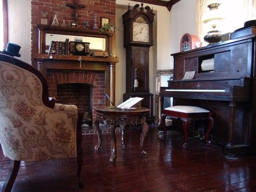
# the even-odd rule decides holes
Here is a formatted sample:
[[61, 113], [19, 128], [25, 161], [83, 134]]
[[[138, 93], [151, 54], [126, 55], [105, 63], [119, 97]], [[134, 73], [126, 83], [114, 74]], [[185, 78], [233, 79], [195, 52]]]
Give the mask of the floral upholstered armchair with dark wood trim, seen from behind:
[[48, 98], [47, 81], [39, 71], [0, 54], [0, 144], [4, 156], [11, 159], [2, 191], [12, 190], [20, 161], [64, 157], [77, 157], [77, 182], [83, 188], [77, 118], [76, 106], [55, 104]]

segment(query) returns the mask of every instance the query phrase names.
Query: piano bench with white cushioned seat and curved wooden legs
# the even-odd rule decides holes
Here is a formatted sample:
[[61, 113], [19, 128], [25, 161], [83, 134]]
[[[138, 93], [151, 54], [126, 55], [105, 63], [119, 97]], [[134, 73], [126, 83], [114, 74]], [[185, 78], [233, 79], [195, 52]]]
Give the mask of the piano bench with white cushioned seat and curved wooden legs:
[[166, 138], [166, 124], [165, 118], [169, 116], [171, 119], [181, 119], [183, 122], [183, 132], [184, 132], [184, 144], [182, 145], [183, 149], [188, 148], [188, 130], [191, 126], [191, 123], [194, 120], [207, 120], [208, 128], [205, 136], [205, 143], [207, 146], [211, 146], [211, 142], [208, 141], [209, 133], [213, 127], [213, 118], [210, 111], [199, 108], [195, 106], [173, 106], [169, 108], [165, 108], [163, 113], [161, 114], [161, 126], [163, 128], [164, 135], [162, 139]]

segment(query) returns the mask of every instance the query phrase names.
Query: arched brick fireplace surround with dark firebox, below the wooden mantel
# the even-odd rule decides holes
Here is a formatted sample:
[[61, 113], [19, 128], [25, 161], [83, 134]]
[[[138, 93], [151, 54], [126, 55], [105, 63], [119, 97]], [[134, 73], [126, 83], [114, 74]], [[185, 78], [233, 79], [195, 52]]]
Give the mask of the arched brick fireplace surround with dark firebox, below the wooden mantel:
[[105, 79], [101, 71], [51, 69], [47, 72], [49, 96], [57, 103], [83, 108], [95, 120], [93, 109], [105, 106]]

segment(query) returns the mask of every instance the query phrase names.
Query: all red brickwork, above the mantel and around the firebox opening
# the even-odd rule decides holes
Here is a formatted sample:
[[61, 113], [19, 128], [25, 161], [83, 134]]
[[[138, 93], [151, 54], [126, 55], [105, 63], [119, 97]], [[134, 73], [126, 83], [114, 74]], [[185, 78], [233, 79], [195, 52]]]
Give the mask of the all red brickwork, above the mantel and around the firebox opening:
[[[70, 25], [74, 22], [73, 9], [65, 6], [65, 3], [73, 3], [74, 0], [31, 0], [31, 24], [32, 24], [32, 49], [33, 42], [36, 41], [37, 33], [37, 10], [47, 10], [51, 12], [51, 22], [55, 13], [59, 24], [65, 22]], [[94, 14], [97, 14], [97, 24], [99, 27], [100, 17], [110, 19], [110, 23], [115, 23], [115, 0], [77, 0], [77, 3], [85, 5], [85, 8], [78, 9], [78, 27], [85, 28], [85, 19], [89, 20], [89, 29], [94, 26]], [[33, 64], [35, 61], [33, 61]], [[48, 70], [47, 81], [49, 84], [49, 96], [57, 98], [57, 85], [66, 83], [91, 84], [92, 88], [92, 108], [105, 106], [105, 72], [89, 72], [75, 70]], [[58, 99], [58, 98], [57, 98]], [[95, 111], [93, 110], [93, 119], [95, 120]]]

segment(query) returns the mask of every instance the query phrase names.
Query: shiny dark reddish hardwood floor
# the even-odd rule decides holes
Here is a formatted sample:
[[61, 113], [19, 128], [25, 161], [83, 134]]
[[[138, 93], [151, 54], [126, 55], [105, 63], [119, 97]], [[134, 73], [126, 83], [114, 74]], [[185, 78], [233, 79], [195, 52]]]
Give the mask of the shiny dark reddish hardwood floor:
[[[180, 133], [168, 131], [164, 142], [151, 127], [145, 159], [139, 151], [140, 132], [126, 132], [126, 147], [116, 132], [117, 159], [113, 165], [109, 163], [109, 133], [102, 134], [99, 152], [94, 150], [96, 134], [83, 137], [83, 192], [256, 192], [256, 154], [227, 160], [223, 147], [206, 147], [191, 137], [189, 150], [182, 150]], [[9, 166], [10, 160], [0, 151], [0, 189]], [[75, 173], [75, 159], [22, 162], [12, 192], [76, 192]]]

